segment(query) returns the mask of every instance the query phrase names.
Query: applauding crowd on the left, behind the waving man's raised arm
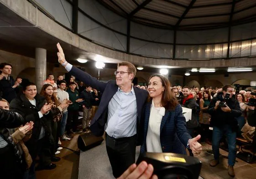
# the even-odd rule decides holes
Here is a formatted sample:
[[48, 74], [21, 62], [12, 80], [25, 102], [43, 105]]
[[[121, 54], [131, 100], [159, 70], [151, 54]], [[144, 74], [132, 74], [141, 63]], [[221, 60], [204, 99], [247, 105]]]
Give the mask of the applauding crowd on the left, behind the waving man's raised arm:
[[[73, 133], [90, 132], [92, 108], [95, 113], [100, 92], [83, 82], [79, 89], [73, 79], [67, 84], [63, 76], [54, 81], [53, 74], [47, 76], [39, 92], [37, 86], [26, 79], [15, 81], [11, 77], [11, 64], [1, 63], [0, 71], [0, 108], [20, 114], [23, 121], [19, 125], [16, 122], [6, 125], [1, 121], [1, 173], [6, 179], [35, 179], [36, 170], [56, 168], [54, 162], [60, 160], [57, 154], [63, 149], [61, 141], [71, 140]], [[80, 129], [79, 108], [84, 112]]]

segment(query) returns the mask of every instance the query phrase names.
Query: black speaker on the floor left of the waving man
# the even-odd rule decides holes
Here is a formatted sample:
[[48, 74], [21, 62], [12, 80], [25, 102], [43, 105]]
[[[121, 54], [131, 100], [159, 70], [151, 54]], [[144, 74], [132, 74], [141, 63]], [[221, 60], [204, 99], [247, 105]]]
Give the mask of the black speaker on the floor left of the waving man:
[[92, 133], [85, 133], [79, 135], [77, 139], [78, 148], [82, 151], [89, 150], [90, 148], [94, 148], [97, 145], [101, 144], [103, 141], [103, 137], [96, 137]]

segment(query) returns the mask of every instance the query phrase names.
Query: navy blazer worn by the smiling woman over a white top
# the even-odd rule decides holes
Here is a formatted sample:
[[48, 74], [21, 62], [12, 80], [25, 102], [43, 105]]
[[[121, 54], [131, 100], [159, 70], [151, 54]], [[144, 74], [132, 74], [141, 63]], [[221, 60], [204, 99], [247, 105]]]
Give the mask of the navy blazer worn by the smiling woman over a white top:
[[[143, 130], [143, 143], [141, 145], [141, 153], [146, 152], [146, 134], [150, 117], [150, 109], [152, 102], [146, 104], [145, 123]], [[175, 110], [165, 112], [160, 125], [160, 143], [162, 152], [164, 153], [180, 153], [186, 154], [185, 146], [188, 139], [192, 138], [186, 128], [186, 119], [182, 114], [181, 105], [177, 105]]]

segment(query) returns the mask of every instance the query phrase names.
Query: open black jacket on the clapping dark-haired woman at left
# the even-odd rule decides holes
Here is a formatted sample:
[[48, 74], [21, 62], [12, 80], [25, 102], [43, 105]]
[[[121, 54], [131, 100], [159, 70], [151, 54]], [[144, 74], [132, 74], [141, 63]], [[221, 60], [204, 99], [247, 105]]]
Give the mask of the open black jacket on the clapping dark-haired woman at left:
[[30, 121], [34, 122], [32, 135], [28, 142], [36, 142], [39, 138], [41, 128], [43, 127], [45, 129], [45, 136], [49, 139], [50, 143], [52, 143], [52, 118], [50, 118], [52, 116], [52, 112], [50, 111], [48, 113], [49, 115], [43, 115], [42, 118], [39, 118], [38, 112], [41, 110], [46, 100], [39, 94], [35, 96], [35, 99], [36, 106], [32, 105], [24, 94], [21, 94], [20, 96], [12, 100], [12, 102], [10, 103], [10, 110], [20, 113], [21, 116], [25, 119], [25, 123], [29, 123]]

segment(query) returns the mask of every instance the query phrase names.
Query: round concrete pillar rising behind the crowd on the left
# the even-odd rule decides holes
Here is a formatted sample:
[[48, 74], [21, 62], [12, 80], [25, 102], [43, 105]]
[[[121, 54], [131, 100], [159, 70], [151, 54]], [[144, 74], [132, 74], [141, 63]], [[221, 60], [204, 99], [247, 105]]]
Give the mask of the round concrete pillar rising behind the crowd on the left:
[[46, 49], [36, 48], [36, 85], [37, 92], [41, 91], [46, 80]]

